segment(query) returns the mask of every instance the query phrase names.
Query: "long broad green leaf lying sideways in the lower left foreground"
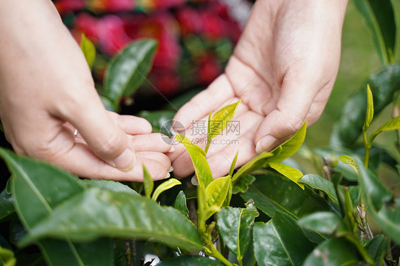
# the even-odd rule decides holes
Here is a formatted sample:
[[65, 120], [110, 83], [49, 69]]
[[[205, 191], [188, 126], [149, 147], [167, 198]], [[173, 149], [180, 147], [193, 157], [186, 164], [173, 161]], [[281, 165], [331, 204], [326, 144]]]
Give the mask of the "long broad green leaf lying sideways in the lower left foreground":
[[43, 237], [90, 241], [102, 236], [148, 239], [171, 248], [203, 245], [196, 228], [179, 211], [130, 193], [89, 188], [55, 208], [21, 244]]

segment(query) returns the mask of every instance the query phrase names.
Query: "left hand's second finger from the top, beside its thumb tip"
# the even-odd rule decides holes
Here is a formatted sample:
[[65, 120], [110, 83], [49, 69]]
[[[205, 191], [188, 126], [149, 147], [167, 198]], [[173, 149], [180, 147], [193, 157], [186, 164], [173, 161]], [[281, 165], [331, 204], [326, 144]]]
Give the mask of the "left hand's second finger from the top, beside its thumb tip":
[[131, 138], [136, 151], [158, 151], [162, 153], [174, 151], [174, 147], [169, 144], [171, 139], [164, 134], [140, 134]]

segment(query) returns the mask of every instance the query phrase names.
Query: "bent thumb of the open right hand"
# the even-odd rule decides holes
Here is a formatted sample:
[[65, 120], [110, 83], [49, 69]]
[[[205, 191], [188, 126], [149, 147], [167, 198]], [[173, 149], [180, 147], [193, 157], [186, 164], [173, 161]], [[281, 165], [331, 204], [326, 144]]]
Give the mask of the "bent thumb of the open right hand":
[[298, 85], [292, 91], [283, 89], [276, 109], [258, 125], [254, 137], [256, 152], [269, 151], [295, 134], [308, 118], [314, 98], [313, 92], [302, 90]]

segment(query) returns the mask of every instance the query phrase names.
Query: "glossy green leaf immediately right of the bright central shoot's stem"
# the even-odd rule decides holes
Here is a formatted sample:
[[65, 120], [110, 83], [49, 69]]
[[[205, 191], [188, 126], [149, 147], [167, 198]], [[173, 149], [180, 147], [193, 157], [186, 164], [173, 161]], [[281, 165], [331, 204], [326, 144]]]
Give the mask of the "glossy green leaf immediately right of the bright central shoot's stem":
[[240, 261], [251, 242], [251, 231], [258, 211], [252, 203], [247, 208], [225, 207], [217, 213], [217, 225], [223, 243]]

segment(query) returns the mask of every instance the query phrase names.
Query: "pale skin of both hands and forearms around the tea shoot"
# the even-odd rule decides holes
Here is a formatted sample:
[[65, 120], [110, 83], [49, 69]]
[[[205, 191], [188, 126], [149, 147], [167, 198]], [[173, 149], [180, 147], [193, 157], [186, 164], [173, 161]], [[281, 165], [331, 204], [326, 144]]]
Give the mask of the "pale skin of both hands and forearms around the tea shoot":
[[[214, 177], [228, 173], [236, 151], [236, 166], [243, 165], [320, 117], [337, 75], [346, 6], [347, 0], [256, 1], [225, 73], [175, 117], [194, 139], [201, 136], [191, 134], [193, 120], [242, 100], [234, 117], [240, 134], [216, 137], [209, 149]], [[141, 181], [145, 164], [162, 179], [171, 161], [177, 176], [193, 173], [184, 147], [172, 151], [144, 119], [102, 107], [51, 1], [0, 0], [0, 32], [0, 117], [17, 153], [88, 178]]]

